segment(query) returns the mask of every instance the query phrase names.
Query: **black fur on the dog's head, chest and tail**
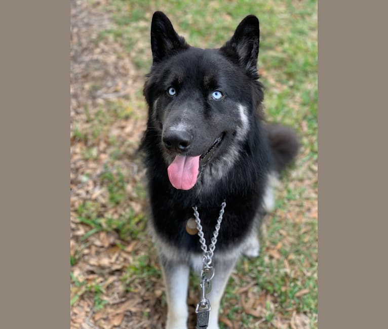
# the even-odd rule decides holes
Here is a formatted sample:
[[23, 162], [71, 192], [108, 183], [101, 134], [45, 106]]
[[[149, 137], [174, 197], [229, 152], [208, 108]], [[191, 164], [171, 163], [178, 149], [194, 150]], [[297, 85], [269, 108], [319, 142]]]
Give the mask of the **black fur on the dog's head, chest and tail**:
[[[222, 48], [203, 50], [190, 47], [175, 32], [169, 19], [156, 12], [151, 24], [151, 48], [153, 63], [144, 86], [149, 115], [141, 150], [145, 154], [154, 231], [179, 250], [200, 253], [198, 236], [185, 231], [187, 220], [193, 217], [192, 207], [197, 205], [205, 238], [210, 241], [220, 204], [226, 200], [217, 242], [217, 252], [225, 251], [243, 241], [252, 230], [254, 219], [262, 210], [268, 174], [280, 172], [298, 148], [291, 130], [263, 124], [263, 88], [257, 80], [256, 67], [259, 22], [255, 16], [248, 16]], [[210, 79], [206, 86], [202, 83], [204, 75]], [[171, 85], [176, 86], [180, 95], [185, 94], [180, 103], [177, 103], [178, 98], [172, 100], [166, 95]], [[205, 122], [202, 125], [197, 124], [196, 116], [190, 116], [195, 122], [193, 126], [197, 125], [195, 138], [201, 151], [206, 150], [216, 136], [212, 135], [212, 127], [206, 127], [206, 120], [222, 122], [225, 127], [221, 130], [226, 133], [212, 161], [222, 156], [228, 147], [235, 147], [232, 143], [238, 132], [230, 124], [235, 120], [234, 113], [228, 110], [230, 105], [226, 100], [221, 104], [208, 99], [209, 92], [220, 85], [229, 100], [248, 109], [249, 131], [240, 143], [239, 156], [233, 160], [231, 169], [212, 184], [206, 183], [200, 175], [193, 188], [176, 189], [167, 175], [170, 163], [166, 160], [166, 153], [171, 152], [162, 143], [163, 129], [169, 124], [169, 113], [176, 111], [175, 117], [179, 116], [179, 109], [186, 106], [191, 112], [197, 112], [196, 116], [201, 116]], [[193, 101], [188, 103], [187, 100]], [[214, 119], [215, 116], [217, 119]], [[202, 131], [198, 133], [198, 130]], [[212, 135], [209, 140], [200, 140], [207, 135]]]

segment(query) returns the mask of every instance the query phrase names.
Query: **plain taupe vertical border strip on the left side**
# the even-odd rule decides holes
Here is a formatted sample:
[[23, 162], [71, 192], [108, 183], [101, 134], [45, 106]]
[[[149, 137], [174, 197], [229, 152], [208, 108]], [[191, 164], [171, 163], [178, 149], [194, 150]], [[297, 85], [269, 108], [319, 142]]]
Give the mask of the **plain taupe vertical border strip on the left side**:
[[1, 326], [69, 328], [70, 4], [0, 15]]

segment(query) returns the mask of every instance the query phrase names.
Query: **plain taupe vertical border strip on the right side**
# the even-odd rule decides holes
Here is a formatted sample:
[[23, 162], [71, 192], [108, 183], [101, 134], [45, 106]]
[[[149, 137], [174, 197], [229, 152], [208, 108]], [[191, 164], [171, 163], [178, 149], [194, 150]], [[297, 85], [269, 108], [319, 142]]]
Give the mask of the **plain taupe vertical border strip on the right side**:
[[387, 7], [319, 2], [320, 328], [386, 326]]

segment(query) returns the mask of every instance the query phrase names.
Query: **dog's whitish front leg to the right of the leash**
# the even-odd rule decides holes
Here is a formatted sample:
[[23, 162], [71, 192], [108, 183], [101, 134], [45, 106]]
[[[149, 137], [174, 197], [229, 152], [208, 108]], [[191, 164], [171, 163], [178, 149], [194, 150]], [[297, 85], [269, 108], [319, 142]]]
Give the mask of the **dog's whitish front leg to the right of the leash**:
[[218, 312], [221, 302], [221, 297], [225, 290], [226, 283], [230, 273], [236, 265], [238, 258], [229, 260], [220, 260], [214, 262], [215, 274], [212, 279], [212, 289], [207, 296], [212, 307], [209, 314], [208, 329], [218, 329]]

